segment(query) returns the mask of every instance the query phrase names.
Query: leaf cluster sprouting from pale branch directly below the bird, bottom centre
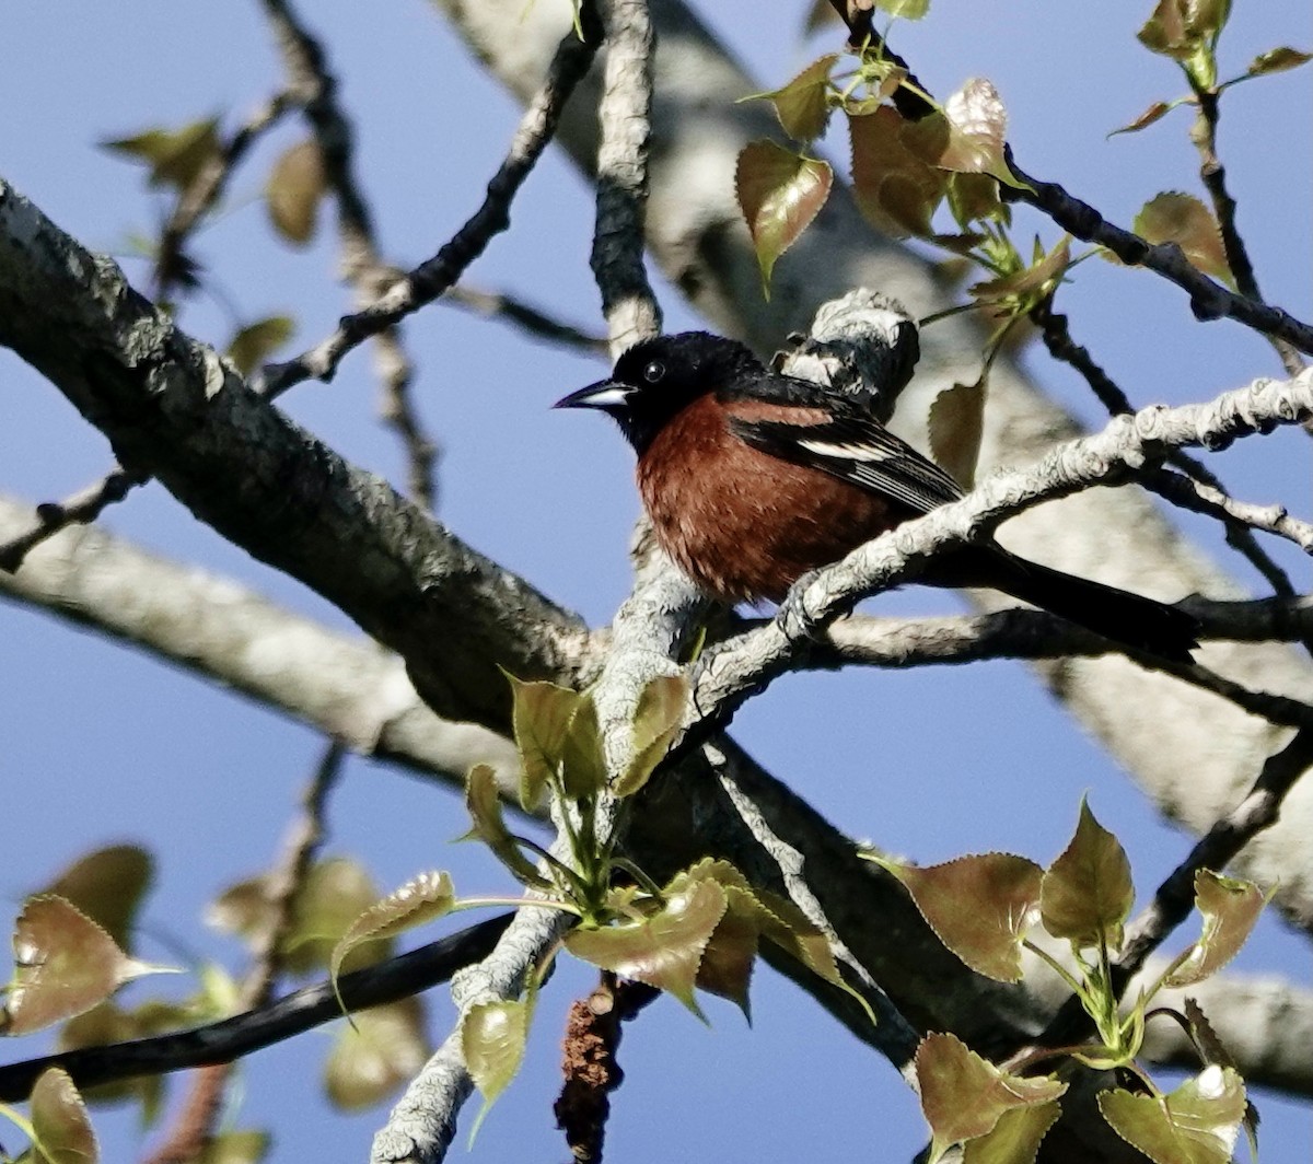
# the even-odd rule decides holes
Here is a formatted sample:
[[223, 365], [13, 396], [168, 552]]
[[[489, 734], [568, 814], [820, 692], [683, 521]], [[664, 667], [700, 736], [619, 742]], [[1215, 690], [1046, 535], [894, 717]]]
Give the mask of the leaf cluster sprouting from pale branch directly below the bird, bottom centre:
[[679, 735], [688, 698], [683, 677], [660, 677], [645, 689], [629, 724], [630, 759], [618, 773], [608, 772], [590, 693], [511, 684], [520, 807], [533, 811], [553, 800], [569, 860], [511, 831], [486, 765], [471, 769], [466, 783], [471, 836], [536, 895], [524, 904], [561, 909], [578, 924], [534, 967], [524, 999], [477, 1004], [462, 1020], [465, 1063], [484, 1098], [481, 1121], [519, 1071], [537, 991], [559, 949], [667, 991], [700, 1018], [699, 988], [748, 1013], [748, 983], [763, 940], [847, 989], [825, 936], [792, 902], [754, 888], [731, 865], [709, 858], [658, 884], [620, 852], [621, 829], [601, 836], [604, 798], [617, 798], [624, 810]]

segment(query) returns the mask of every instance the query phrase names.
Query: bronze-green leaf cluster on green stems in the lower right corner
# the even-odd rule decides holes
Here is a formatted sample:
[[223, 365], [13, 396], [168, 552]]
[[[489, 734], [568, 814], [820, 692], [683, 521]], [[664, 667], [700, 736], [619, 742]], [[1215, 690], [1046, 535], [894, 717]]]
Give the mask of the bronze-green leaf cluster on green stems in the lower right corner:
[[[1242, 1126], [1253, 1139], [1243, 1081], [1199, 1007], [1187, 1001], [1176, 1012], [1150, 1004], [1163, 988], [1203, 982], [1236, 955], [1267, 900], [1257, 886], [1200, 870], [1195, 877], [1200, 937], [1123, 1008], [1112, 959], [1123, 947], [1134, 902], [1130, 865], [1087, 804], [1081, 806], [1070, 844], [1048, 869], [1008, 853], [927, 869], [872, 860], [903, 883], [940, 941], [972, 970], [1019, 982], [1022, 951], [1029, 950], [1070, 987], [1096, 1033], [1096, 1042], [1036, 1051], [1007, 1068], [951, 1034], [927, 1035], [916, 1054], [916, 1076], [932, 1131], [931, 1160], [957, 1144], [966, 1146], [966, 1160], [1033, 1159], [1058, 1118], [1067, 1085], [1057, 1073], [1036, 1076], [1025, 1068], [1053, 1056], [1117, 1071], [1133, 1084], [1103, 1092], [1099, 1109], [1123, 1139], [1158, 1164], [1224, 1164]], [[1070, 966], [1029, 940], [1036, 925], [1067, 942]], [[1204, 1064], [1166, 1094], [1136, 1063], [1145, 1024], [1159, 1016], [1182, 1024]]]

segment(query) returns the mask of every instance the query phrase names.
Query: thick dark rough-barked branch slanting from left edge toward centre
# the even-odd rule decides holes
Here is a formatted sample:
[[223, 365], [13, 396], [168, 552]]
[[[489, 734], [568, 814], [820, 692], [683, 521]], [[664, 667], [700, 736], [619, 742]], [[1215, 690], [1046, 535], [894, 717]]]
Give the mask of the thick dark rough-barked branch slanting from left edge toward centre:
[[156, 476], [400, 654], [436, 710], [504, 726], [502, 668], [528, 678], [582, 664], [576, 618], [293, 425], [3, 182], [0, 343], [63, 391], [129, 471]]

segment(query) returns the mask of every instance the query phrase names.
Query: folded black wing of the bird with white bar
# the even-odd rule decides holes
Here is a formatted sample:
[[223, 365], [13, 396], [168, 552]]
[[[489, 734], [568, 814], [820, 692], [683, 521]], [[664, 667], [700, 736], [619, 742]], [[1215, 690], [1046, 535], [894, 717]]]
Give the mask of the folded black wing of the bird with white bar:
[[844, 411], [821, 424], [735, 416], [730, 426], [754, 449], [893, 497], [916, 513], [930, 513], [962, 496], [944, 470], [861, 413]]

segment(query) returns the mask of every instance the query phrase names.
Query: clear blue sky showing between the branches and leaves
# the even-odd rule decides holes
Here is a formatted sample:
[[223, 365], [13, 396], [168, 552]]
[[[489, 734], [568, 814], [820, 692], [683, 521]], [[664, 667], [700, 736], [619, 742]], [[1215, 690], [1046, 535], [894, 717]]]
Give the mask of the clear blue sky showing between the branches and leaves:
[[[1224, 73], [1241, 71], [1266, 49], [1306, 49], [1313, 39], [1305, 0], [1236, 7]], [[356, 119], [360, 171], [383, 249], [411, 265], [477, 206], [519, 109], [470, 60], [442, 17], [418, 0], [322, 0], [302, 8], [330, 50]], [[1145, 134], [1106, 138], [1153, 100], [1183, 91], [1179, 75], [1134, 41], [1149, 8], [937, 0], [931, 18], [903, 28], [895, 45], [937, 93], [970, 76], [990, 77], [1008, 105], [1010, 136], [1024, 164], [1129, 223], [1159, 190], [1197, 192], [1188, 114]], [[758, 5], [751, 26], [737, 5], [717, 5], [708, 18], [762, 89], [838, 38], [804, 46], [796, 4]], [[25, 5], [7, 12], [5, 22], [0, 96], [9, 113], [0, 119], [0, 172], [85, 244], [123, 257], [144, 287], [144, 268], [126, 257], [126, 240], [151, 230], [160, 203], [144, 190], [140, 171], [96, 142], [215, 113], [246, 115], [278, 84], [256, 5], [134, 0], [79, 9], [74, 18], [56, 5]], [[1313, 316], [1310, 85], [1313, 68], [1238, 87], [1225, 101], [1221, 140], [1264, 293], [1302, 319]], [[246, 322], [291, 312], [298, 339], [310, 344], [331, 328], [348, 295], [335, 283], [331, 231], [291, 252], [273, 239], [259, 205], [264, 175], [294, 138], [284, 127], [256, 150], [194, 251]], [[475, 265], [471, 282], [600, 329], [587, 268], [591, 209], [569, 163], [545, 159], [516, 202], [511, 234]], [[1056, 240], [1052, 228], [1032, 228]], [[699, 323], [667, 287], [659, 294], [668, 328]], [[1232, 324], [1194, 324], [1180, 293], [1149, 274], [1088, 262], [1064, 295], [1079, 336], [1138, 403], [1201, 400], [1279, 373], [1259, 339]], [[207, 297], [188, 304], [183, 324], [214, 343], [232, 329], [223, 303]], [[605, 622], [628, 589], [625, 549], [637, 513], [630, 455], [600, 423], [545, 412], [595, 379], [599, 365], [446, 306], [408, 324], [406, 340], [419, 367], [420, 411], [442, 446], [442, 520], [592, 623]], [[1098, 421], [1098, 405], [1070, 375], [1035, 352], [1028, 364], [1064, 403]], [[357, 353], [331, 386], [302, 386], [285, 407], [353, 461], [402, 482], [398, 447], [374, 419], [376, 396], [370, 361]], [[104, 438], [8, 353], [0, 353], [0, 489], [63, 497], [109, 466]], [[1306, 508], [1304, 434], [1245, 442], [1218, 461], [1242, 496]], [[104, 525], [349, 626], [316, 596], [200, 526], [158, 486], [135, 493]], [[1216, 530], [1190, 528], [1200, 531], [1207, 552], [1225, 554]], [[1285, 547], [1275, 552], [1306, 588], [1306, 563]], [[952, 606], [949, 597], [909, 591], [881, 600], [878, 609]], [[201, 913], [221, 888], [278, 850], [319, 740], [240, 697], [43, 614], [0, 605], [0, 787], [8, 849], [17, 857], [0, 877], [5, 904], [16, 905], [24, 891], [89, 848], [139, 840], [160, 866], [148, 930], [240, 968], [242, 951], [206, 930]], [[952, 732], [940, 730], [948, 707]], [[1065, 844], [1085, 791], [1124, 839], [1141, 892], [1188, 845], [1019, 665], [790, 677], [754, 701], [735, 732], [830, 819], [922, 862], [986, 849], [1048, 861]], [[506, 887], [475, 846], [448, 844], [465, 829], [457, 797], [379, 765], [349, 764], [330, 824], [330, 852], [361, 854], [382, 888], [431, 867], [452, 869], [466, 892]], [[146, 951], [165, 957], [163, 945], [152, 951], [150, 938]], [[1268, 921], [1239, 966], [1306, 982], [1306, 944]], [[528, 1066], [486, 1122], [477, 1157], [565, 1156], [551, 1129], [555, 1047], [565, 1008], [587, 983], [578, 970], [551, 983]], [[441, 992], [432, 995], [431, 1013], [441, 1038], [452, 1017]], [[612, 1159], [906, 1160], [923, 1142], [919, 1113], [888, 1066], [769, 971], [756, 984], [752, 1029], [727, 1005], [712, 1003], [708, 1014], [704, 1028], [663, 1000], [628, 1031], [621, 1056], [628, 1081], [614, 1097], [608, 1135]], [[273, 1126], [276, 1161], [368, 1152], [382, 1112], [348, 1118], [324, 1108], [318, 1071], [326, 1049], [327, 1038], [311, 1034], [243, 1068], [236, 1122]], [[7, 1051], [24, 1054], [17, 1045]], [[181, 1083], [175, 1080], [175, 1097]], [[1306, 1105], [1259, 1101], [1264, 1160], [1306, 1160]], [[105, 1159], [139, 1155], [131, 1115], [102, 1113], [97, 1126]]]

